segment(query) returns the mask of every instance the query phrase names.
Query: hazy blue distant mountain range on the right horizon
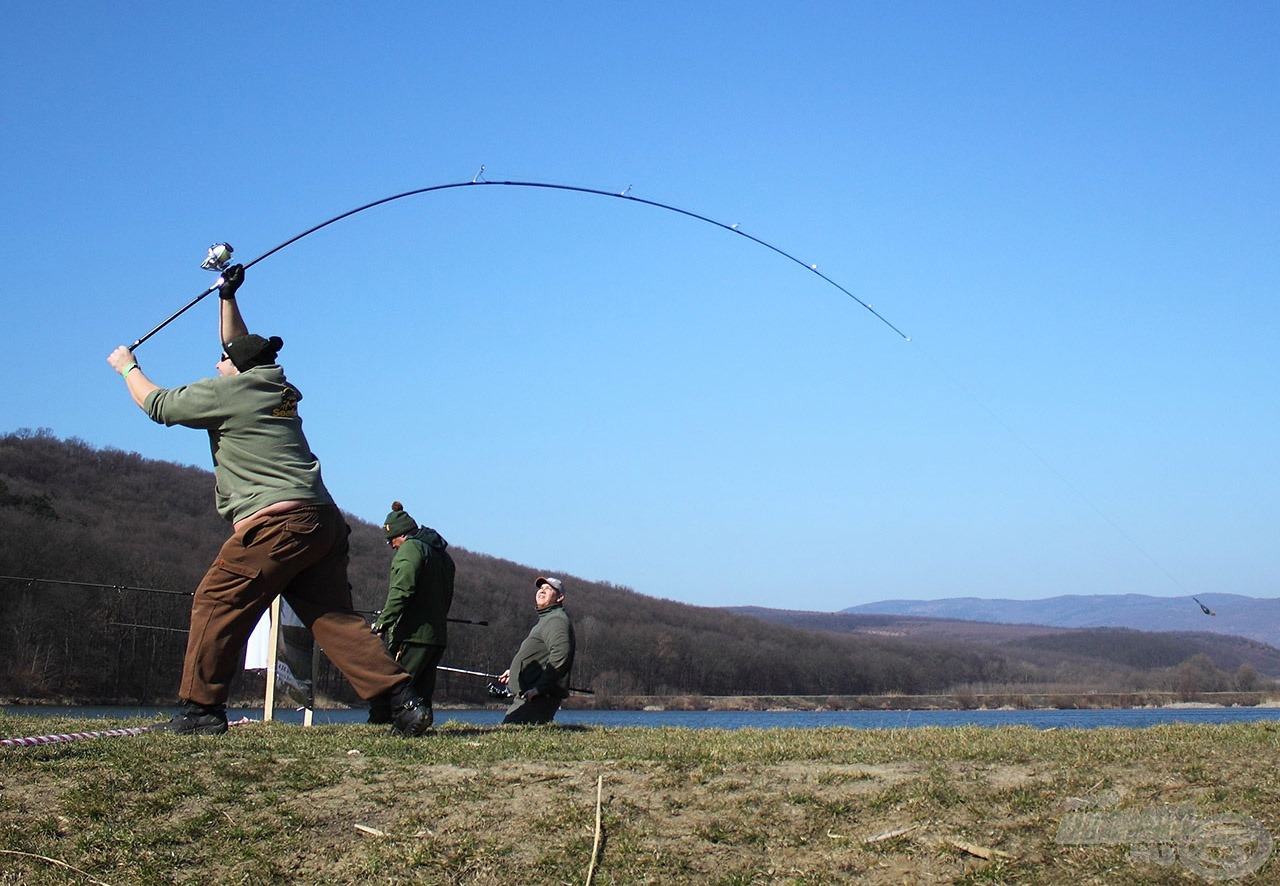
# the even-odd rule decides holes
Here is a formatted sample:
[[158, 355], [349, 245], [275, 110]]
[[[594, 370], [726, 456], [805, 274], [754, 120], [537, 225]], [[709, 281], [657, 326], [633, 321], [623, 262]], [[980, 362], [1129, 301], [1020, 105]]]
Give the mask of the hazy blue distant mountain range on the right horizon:
[[[1206, 615], [1197, 599], [1215, 615]], [[1039, 600], [955, 597], [937, 600], [881, 600], [851, 606], [841, 609], [841, 613], [959, 618], [996, 625], [1207, 631], [1280, 647], [1280, 599], [1239, 594], [1197, 594], [1194, 598], [1069, 594]]]

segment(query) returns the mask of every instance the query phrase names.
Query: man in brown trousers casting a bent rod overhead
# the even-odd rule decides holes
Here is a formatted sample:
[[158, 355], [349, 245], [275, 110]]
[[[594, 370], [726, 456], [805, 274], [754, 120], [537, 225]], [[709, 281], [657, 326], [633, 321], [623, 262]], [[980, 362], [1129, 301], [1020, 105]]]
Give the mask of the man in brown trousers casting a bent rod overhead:
[[275, 357], [284, 342], [250, 334], [236, 303], [239, 265], [220, 280], [218, 376], [160, 388], [127, 347], [108, 357], [152, 421], [209, 433], [218, 512], [234, 528], [196, 588], [183, 662], [183, 707], [166, 729], [227, 731], [232, 676], [244, 645], [278, 594], [365, 699], [385, 699], [392, 730], [421, 735], [428, 721], [410, 675], [387, 654], [352, 608], [347, 581], [351, 530], [320, 478], [302, 434], [302, 393]]

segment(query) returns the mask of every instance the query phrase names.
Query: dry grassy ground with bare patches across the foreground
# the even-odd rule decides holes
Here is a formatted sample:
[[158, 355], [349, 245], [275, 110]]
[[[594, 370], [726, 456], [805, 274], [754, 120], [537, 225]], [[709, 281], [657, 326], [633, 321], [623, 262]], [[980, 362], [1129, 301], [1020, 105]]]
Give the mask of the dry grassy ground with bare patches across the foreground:
[[[137, 725], [0, 714], [0, 736]], [[0, 883], [1270, 883], [1271, 834], [1272, 723], [0, 748]]]

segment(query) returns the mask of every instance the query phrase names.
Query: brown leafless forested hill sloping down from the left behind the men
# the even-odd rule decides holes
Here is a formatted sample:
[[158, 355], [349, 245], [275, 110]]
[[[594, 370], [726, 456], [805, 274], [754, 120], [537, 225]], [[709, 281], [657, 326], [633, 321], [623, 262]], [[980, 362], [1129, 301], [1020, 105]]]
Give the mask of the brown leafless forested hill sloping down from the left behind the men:
[[[372, 611], [383, 600], [390, 552], [380, 528], [349, 515], [348, 521], [356, 604]], [[1176, 688], [1179, 668], [1197, 656], [1204, 688], [1216, 681], [1213, 688], [1230, 689], [1240, 679], [1235, 661], [1206, 667], [1194, 643], [1148, 667], [1108, 661], [1106, 649], [1033, 659], [989, 643], [771, 624], [585, 581], [554, 563], [535, 567], [471, 552], [448, 526], [436, 529], [453, 543], [458, 565], [452, 615], [490, 622], [451, 626], [445, 664], [506, 668], [534, 621], [532, 579], [550, 570], [566, 580], [577, 632], [573, 682], [595, 689], [604, 703], [617, 695], [941, 694], [961, 685], [1062, 681]], [[0, 699], [170, 702], [189, 592], [227, 531], [212, 510], [210, 471], [49, 431], [0, 435], [0, 576], [15, 576], [0, 579]], [[321, 690], [355, 700], [334, 675]], [[442, 700], [483, 694], [483, 680], [449, 677]]]

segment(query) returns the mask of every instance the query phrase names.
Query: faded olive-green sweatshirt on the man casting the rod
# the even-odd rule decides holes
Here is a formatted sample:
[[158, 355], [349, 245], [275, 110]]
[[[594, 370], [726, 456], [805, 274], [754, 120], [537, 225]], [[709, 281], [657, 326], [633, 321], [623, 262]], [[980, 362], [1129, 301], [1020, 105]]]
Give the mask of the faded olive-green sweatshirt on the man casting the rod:
[[333, 503], [302, 434], [300, 399], [302, 392], [273, 364], [160, 388], [142, 407], [159, 424], [209, 431], [218, 513], [236, 522], [276, 502]]

